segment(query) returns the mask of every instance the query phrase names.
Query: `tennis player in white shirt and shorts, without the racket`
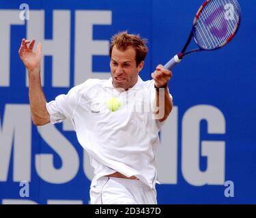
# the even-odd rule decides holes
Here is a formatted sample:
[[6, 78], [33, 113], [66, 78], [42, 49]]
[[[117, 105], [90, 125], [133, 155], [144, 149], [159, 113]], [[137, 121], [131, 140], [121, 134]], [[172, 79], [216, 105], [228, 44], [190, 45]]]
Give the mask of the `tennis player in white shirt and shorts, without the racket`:
[[19, 55], [29, 72], [29, 102], [35, 125], [72, 121], [94, 167], [91, 204], [156, 204], [158, 131], [173, 108], [172, 73], [158, 65], [153, 80], [139, 72], [145, 40], [127, 32], [112, 37], [111, 78], [89, 79], [46, 103], [40, 83], [42, 44], [22, 40]]

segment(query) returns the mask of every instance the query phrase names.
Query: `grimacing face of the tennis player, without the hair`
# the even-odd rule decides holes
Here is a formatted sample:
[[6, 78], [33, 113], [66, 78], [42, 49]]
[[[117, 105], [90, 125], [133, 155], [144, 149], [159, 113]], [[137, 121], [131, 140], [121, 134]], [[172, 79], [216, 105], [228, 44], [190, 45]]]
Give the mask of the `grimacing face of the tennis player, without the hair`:
[[136, 51], [132, 46], [129, 46], [126, 50], [118, 50], [114, 46], [110, 62], [113, 86], [125, 90], [133, 87], [138, 80], [143, 65], [144, 61], [141, 61], [137, 67]]

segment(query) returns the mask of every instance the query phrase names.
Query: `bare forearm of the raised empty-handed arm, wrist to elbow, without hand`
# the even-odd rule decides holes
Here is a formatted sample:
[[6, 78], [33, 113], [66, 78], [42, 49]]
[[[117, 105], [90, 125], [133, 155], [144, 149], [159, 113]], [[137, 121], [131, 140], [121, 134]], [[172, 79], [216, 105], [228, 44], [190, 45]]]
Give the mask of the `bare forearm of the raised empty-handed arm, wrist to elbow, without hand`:
[[29, 72], [29, 102], [33, 123], [35, 125], [49, 123], [50, 116], [46, 110], [46, 99], [42, 91], [40, 69]]

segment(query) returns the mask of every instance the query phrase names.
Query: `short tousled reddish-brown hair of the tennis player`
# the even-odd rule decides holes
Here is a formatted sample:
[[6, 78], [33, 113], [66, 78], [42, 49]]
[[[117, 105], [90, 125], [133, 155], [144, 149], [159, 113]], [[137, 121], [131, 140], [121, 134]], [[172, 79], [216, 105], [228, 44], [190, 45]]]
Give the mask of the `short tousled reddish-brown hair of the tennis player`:
[[111, 57], [114, 46], [116, 46], [119, 50], [126, 50], [128, 46], [132, 46], [136, 51], [136, 63], [138, 66], [141, 61], [145, 60], [147, 55], [146, 43], [147, 40], [142, 39], [139, 35], [128, 34], [127, 31], [117, 33], [111, 38], [109, 56]]

